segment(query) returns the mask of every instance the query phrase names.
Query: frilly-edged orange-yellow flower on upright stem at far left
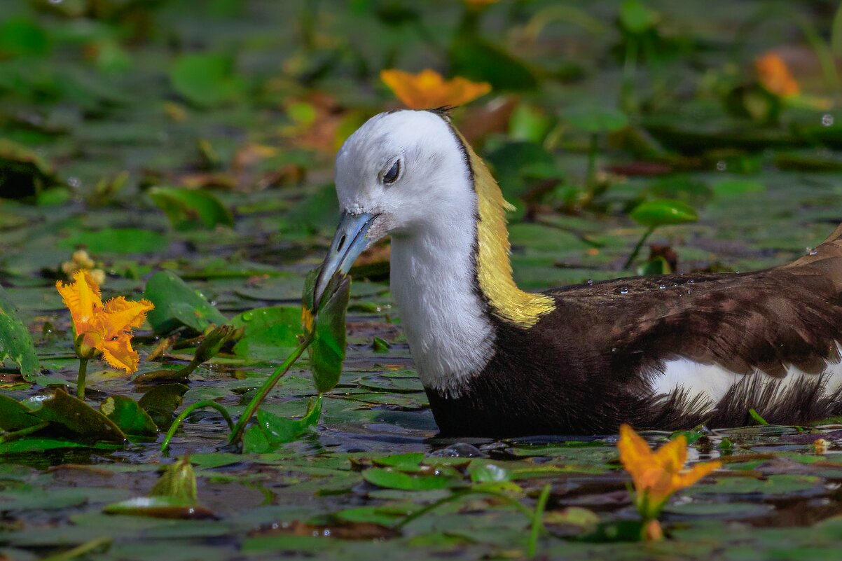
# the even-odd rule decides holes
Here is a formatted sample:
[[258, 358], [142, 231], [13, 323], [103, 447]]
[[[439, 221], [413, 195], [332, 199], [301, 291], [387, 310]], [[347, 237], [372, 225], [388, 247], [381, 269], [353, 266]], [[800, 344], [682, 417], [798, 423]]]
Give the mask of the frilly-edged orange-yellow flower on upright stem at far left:
[[80, 358], [90, 358], [99, 350], [109, 365], [126, 372], [136, 371], [140, 357], [131, 348], [131, 329], [146, 320], [147, 312], [154, 308], [152, 302], [116, 297], [103, 304], [99, 285], [87, 270], [78, 270], [69, 285], [57, 281], [56, 289], [73, 318]]

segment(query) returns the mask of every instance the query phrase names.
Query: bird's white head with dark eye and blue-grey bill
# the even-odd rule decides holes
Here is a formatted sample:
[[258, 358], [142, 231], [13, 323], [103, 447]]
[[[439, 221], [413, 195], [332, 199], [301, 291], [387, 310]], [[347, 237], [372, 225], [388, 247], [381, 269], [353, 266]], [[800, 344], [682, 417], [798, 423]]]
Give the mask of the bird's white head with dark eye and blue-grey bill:
[[[371, 243], [392, 235], [442, 232], [473, 216], [469, 157], [445, 115], [401, 110], [368, 120], [336, 157], [342, 220], [317, 284], [317, 297], [335, 270], [348, 272]], [[473, 236], [473, 228], [465, 235]]]

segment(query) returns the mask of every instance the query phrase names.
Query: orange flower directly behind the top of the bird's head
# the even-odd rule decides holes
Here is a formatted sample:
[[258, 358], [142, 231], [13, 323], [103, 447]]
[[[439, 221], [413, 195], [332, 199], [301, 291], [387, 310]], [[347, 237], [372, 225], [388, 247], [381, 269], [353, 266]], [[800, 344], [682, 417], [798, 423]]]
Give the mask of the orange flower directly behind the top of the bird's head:
[[380, 77], [397, 99], [409, 109], [415, 110], [466, 104], [491, 91], [488, 82], [472, 82], [460, 76], [445, 80], [439, 72], [429, 69], [418, 74], [395, 69], [383, 70]]

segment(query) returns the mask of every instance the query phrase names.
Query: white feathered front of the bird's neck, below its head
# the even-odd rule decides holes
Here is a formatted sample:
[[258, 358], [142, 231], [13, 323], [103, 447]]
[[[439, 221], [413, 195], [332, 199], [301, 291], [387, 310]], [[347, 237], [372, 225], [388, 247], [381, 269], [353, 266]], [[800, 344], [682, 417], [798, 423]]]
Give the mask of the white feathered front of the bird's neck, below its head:
[[474, 212], [454, 209], [412, 235], [392, 235], [392, 296], [424, 387], [456, 398], [493, 355], [477, 294]]

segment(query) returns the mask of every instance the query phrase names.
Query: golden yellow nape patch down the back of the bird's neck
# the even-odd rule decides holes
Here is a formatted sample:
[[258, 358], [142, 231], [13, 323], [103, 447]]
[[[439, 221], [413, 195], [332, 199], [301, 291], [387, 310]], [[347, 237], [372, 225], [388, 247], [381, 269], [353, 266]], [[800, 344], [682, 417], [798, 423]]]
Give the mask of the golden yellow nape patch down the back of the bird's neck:
[[480, 290], [500, 318], [521, 327], [532, 327], [541, 315], [552, 312], [555, 304], [551, 297], [521, 291], [514, 284], [505, 215], [513, 207], [503, 198], [497, 181], [482, 158], [461, 135], [460, 140], [465, 145], [468, 158], [471, 158], [474, 188], [477, 190], [477, 280]]

